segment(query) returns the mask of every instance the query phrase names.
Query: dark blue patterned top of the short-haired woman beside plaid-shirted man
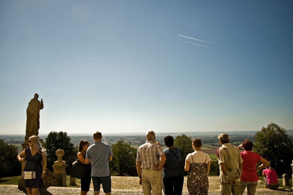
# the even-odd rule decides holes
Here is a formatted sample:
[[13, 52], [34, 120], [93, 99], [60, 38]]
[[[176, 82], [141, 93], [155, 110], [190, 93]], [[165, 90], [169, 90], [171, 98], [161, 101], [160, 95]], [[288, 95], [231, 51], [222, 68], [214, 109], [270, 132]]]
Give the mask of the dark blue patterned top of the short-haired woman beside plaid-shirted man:
[[165, 162], [165, 169], [163, 179], [171, 176], [184, 176], [183, 168], [181, 166], [181, 154], [178, 147], [166, 148], [164, 150], [167, 157]]

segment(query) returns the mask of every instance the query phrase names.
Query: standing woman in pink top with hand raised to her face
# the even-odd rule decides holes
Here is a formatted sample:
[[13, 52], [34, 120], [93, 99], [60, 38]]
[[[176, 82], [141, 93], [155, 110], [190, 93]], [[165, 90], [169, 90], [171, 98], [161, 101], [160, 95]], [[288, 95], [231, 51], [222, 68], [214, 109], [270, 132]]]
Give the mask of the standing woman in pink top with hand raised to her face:
[[[265, 168], [269, 165], [269, 162], [262, 158], [259, 154], [252, 152], [253, 143], [250, 140], [244, 140], [244, 142], [238, 146], [238, 149], [241, 147], [244, 148], [244, 152], [240, 152], [243, 159], [243, 170], [241, 174], [241, 186], [240, 194], [242, 195], [245, 188], [247, 187], [247, 195], [254, 195], [257, 182], [259, 177], [256, 172]], [[262, 165], [256, 168], [257, 162], [261, 162]]]

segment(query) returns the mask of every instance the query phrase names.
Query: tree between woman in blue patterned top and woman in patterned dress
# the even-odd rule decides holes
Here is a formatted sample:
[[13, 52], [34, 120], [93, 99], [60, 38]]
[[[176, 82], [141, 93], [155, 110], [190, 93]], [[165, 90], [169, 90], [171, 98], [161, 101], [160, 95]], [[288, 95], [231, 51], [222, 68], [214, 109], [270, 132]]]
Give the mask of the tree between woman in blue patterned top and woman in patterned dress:
[[192, 140], [190, 137], [182, 134], [181, 136], [179, 135], [174, 139], [174, 146], [177, 146], [180, 149], [181, 165], [184, 170], [185, 158], [187, 154], [194, 152], [192, 148]]

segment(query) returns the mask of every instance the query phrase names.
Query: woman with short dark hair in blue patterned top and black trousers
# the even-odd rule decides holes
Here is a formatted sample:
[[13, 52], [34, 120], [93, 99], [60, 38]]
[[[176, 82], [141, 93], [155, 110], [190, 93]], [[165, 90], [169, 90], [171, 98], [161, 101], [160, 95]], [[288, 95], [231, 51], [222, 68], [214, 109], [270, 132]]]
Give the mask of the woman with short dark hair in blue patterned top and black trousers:
[[174, 138], [166, 136], [165, 145], [168, 147], [164, 150], [166, 155], [165, 169], [163, 173], [163, 183], [165, 186], [165, 195], [181, 195], [184, 173], [181, 166], [181, 154], [178, 147], [174, 145]]

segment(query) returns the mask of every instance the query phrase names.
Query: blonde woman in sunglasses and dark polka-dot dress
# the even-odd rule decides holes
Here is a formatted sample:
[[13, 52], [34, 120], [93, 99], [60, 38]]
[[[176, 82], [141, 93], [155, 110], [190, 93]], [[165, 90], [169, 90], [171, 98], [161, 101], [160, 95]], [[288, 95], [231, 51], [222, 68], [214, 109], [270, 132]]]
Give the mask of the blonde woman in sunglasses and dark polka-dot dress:
[[[27, 195], [40, 195], [39, 188], [44, 186], [43, 180], [46, 174], [47, 158], [45, 149], [37, 136], [31, 136], [28, 139], [29, 147], [17, 155], [20, 162], [27, 161], [24, 171], [36, 171], [35, 179], [25, 179], [24, 186]], [[43, 160], [43, 166], [41, 161]]]

